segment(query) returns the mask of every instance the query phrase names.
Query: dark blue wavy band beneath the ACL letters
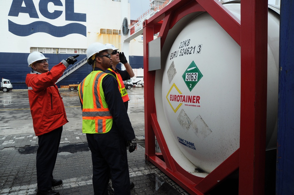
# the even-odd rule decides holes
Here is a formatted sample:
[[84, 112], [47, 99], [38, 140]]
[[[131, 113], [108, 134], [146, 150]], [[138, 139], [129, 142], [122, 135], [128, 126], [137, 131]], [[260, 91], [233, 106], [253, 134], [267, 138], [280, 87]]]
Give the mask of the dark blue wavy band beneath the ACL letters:
[[21, 37], [26, 37], [34, 33], [47, 33], [54, 37], [65, 37], [66, 35], [76, 33], [86, 37], [86, 26], [80, 23], [54, 26], [48, 22], [37, 21], [26, 25], [21, 25], [8, 20], [8, 30], [14, 35]]

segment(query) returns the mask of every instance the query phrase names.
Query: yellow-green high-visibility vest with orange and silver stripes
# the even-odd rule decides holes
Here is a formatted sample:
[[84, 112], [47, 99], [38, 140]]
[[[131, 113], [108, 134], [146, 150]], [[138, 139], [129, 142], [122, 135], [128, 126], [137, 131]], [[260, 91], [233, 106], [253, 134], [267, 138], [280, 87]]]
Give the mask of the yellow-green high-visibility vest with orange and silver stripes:
[[102, 89], [102, 79], [106, 75], [108, 73], [103, 71], [93, 71], [78, 85], [78, 95], [83, 104], [83, 133], [107, 133], [111, 129], [112, 116]]

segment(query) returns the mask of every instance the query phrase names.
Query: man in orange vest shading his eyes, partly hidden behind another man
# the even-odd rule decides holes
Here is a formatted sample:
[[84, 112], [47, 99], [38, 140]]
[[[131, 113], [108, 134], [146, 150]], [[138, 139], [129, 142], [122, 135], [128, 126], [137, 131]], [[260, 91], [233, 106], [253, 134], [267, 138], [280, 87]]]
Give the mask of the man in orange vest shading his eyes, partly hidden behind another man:
[[[123, 81], [131, 79], [133, 76], [135, 76], [135, 74], [123, 52], [118, 52], [118, 48], [110, 43], [106, 43], [105, 46], [107, 47], [107, 49], [113, 49], [113, 52], [111, 53], [112, 67], [109, 68], [106, 72], [111, 73], [113, 74], [113, 76], [116, 77], [118, 89], [121, 92], [121, 98], [123, 99], [126, 110], [128, 111], [128, 101], [130, 99], [128, 97], [128, 92], [125, 88], [125, 85], [123, 84]], [[126, 70], [122, 71], [116, 68], [116, 65], [119, 62], [121, 62], [125, 66]]]

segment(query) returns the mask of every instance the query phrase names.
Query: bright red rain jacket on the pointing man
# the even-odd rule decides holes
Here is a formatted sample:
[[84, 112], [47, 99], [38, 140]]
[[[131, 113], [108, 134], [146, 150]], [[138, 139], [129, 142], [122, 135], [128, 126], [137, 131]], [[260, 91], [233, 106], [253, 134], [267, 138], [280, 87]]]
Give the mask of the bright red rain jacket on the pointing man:
[[46, 73], [31, 71], [26, 75], [36, 136], [46, 134], [69, 122], [58, 87], [55, 85], [65, 69], [66, 66], [60, 62]]

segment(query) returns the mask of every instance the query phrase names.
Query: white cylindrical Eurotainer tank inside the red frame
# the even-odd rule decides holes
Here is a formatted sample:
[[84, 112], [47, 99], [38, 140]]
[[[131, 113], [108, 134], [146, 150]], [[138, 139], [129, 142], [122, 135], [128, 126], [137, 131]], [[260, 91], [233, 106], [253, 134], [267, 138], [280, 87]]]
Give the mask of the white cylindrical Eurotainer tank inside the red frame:
[[[240, 4], [224, 6], [240, 19]], [[209, 173], [239, 148], [240, 46], [208, 13], [169, 33], [165, 42], [174, 41], [163, 47], [165, 66], [155, 79], [158, 123], [181, 167]], [[278, 59], [279, 15], [269, 12], [268, 148], [276, 144]]]

